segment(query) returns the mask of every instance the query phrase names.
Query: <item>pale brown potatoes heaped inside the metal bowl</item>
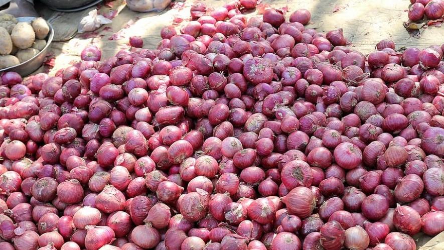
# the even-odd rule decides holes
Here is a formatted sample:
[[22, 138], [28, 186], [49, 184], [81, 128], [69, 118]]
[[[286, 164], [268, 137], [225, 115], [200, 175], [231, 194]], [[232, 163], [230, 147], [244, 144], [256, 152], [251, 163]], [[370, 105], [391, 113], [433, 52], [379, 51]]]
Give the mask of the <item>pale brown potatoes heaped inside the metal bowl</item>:
[[37, 18], [18, 22], [9, 14], [0, 15], [0, 69], [28, 61], [46, 46], [48, 23]]

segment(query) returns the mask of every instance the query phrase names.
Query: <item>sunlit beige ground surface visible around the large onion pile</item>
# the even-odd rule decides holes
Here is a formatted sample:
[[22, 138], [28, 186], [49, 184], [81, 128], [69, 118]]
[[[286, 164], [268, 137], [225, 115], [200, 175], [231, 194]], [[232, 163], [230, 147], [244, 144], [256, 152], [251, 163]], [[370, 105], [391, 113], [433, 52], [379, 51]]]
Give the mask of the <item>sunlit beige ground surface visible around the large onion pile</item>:
[[[52, 44], [51, 53], [54, 60], [49, 64], [54, 67], [48, 68], [47, 65], [40, 68], [39, 72], [49, 70], [50, 74], [54, 74], [58, 69], [79, 61], [80, 52], [89, 44], [101, 48], [102, 59], [113, 56], [120, 49], [129, 48], [130, 36], [141, 36], [145, 48], [156, 48], [161, 40], [162, 27], [171, 25], [174, 20], [184, 19], [176, 24], [180, 29], [186, 24], [190, 6], [194, 2], [196, 1], [186, 0], [185, 3], [176, 3], [173, 8], [160, 13], [135, 13], [126, 8], [122, 0], [116, 0], [102, 5], [98, 10], [100, 14], [115, 11], [117, 15], [112, 19], [112, 24], [105, 25], [93, 33], [77, 35], [77, 24], [91, 9], [78, 13], [59, 13], [38, 6], [44, 17], [53, 23], [56, 40], [65, 40]], [[227, 1], [202, 2], [205, 2], [207, 7], [217, 8]], [[262, 4], [287, 9], [287, 16], [294, 10], [308, 9], [312, 13], [312, 19], [307, 27], [322, 32], [343, 28], [345, 37], [356, 50], [364, 54], [373, 51], [377, 42], [387, 38], [395, 41], [397, 49], [424, 48], [444, 42], [444, 27], [430, 26], [415, 34], [406, 31], [403, 23], [407, 21], [408, 0], [263, 0]], [[257, 11], [248, 15], [257, 15]], [[418, 247], [422, 246], [421, 250], [444, 249], [444, 232], [434, 238], [424, 234], [415, 235], [414, 238]]]

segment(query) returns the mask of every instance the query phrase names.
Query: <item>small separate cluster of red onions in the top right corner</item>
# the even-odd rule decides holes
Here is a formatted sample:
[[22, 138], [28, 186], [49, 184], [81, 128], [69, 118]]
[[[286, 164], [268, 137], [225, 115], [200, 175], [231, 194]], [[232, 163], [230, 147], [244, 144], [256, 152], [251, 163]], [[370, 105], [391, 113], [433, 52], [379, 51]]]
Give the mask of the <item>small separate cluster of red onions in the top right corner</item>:
[[408, 8], [410, 22], [421, 21], [424, 16], [428, 20], [439, 20], [444, 17], [443, 0], [410, 0], [410, 3]]

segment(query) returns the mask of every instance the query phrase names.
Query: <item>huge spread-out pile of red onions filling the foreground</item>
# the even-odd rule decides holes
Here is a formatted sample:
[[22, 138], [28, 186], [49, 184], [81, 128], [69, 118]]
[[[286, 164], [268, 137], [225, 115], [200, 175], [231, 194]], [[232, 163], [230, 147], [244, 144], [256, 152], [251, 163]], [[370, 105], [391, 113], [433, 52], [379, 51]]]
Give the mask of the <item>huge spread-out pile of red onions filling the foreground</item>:
[[2, 74], [0, 249], [415, 250], [443, 231], [444, 45], [365, 56], [307, 10], [255, 6]]

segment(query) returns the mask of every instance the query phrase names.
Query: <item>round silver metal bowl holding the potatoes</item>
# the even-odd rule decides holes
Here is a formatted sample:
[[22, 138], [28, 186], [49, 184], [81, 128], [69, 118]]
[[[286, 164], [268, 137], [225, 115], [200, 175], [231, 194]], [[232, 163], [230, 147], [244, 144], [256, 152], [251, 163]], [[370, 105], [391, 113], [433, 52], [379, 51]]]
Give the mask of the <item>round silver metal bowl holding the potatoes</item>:
[[[21, 17], [17, 18], [17, 21], [19, 22], [32, 22], [34, 17]], [[49, 46], [51, 46], [51, 42], [54, 38], [54, 29], [52, 28], [51, 24], [46, 22], [49, 26], [49, 33], [46, 37], [46, 46], [41, 50], [37, 55], [33, 56], [28, 61], [22, 62], [20, 64], [0, 69], [0, 73], [8, 72], [8, 71], [14, 71], [19, 73], [21, 76], [27, 76], [31, 74], [32, 72], [36, 71], [40, 66], [42, 66], [43, 62], [45, 61], [46, 54], [48, 52]]]

